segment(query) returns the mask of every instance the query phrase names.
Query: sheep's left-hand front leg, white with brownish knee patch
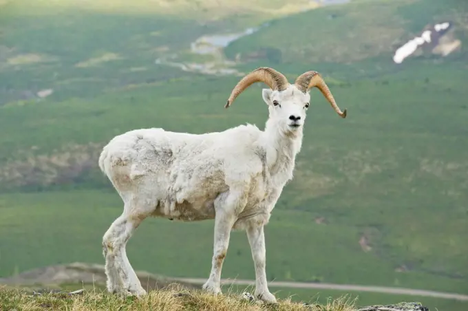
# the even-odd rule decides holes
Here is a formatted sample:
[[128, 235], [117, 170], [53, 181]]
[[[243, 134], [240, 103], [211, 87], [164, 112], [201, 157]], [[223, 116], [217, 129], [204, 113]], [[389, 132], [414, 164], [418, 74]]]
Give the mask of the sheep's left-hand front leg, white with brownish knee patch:
[[213, 261], [208, 281], [202, 288], [213, 294], [221, 293], [221, 270], [228, 250], [229, 237], [235, 222], [235, 216], [226, 211], [217, 211], [215, 216], [215, 239], [213, 247]]

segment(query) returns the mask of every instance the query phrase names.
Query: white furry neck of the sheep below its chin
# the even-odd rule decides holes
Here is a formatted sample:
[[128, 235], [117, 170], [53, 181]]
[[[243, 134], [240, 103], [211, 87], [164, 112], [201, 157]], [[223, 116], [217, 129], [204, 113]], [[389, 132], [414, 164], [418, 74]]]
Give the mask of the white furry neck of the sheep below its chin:
[[[302, 128], [294, 133], [285, 133], [272, 120], [266, 122], [264, 131], [266, 147], [266, 164], [270, 174], [286, 173], [292, 177], [295, 158], [301, 150]], [[288, 178], [289, 179], [289, 178]]]

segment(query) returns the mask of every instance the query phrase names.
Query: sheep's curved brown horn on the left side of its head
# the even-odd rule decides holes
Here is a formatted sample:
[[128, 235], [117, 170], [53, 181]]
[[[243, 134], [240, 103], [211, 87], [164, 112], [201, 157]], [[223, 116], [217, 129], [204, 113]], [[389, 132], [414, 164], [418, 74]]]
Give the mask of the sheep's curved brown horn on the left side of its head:
[[244, 78], [237, 83], [224, 107], [228, 108], [231, 106], [235, 98], [244, 92], [244, 89], [255, 82], [263, 82], [268, 85], [270, 89], [277, 89], [278, 91], [284, 91], [289, 85], [288, 79], [286, 79], [281, 72], [277, 72], [275, 69], [270, 67], [259, 67], [250, 74], [244, 76]]

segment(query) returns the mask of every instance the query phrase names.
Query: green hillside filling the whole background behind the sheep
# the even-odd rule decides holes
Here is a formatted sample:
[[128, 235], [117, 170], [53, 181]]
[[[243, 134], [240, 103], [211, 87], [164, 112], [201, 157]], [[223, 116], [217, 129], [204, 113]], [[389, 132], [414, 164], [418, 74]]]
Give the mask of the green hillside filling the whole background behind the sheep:
[[[274, 18], [225, 53], [235, 58], [274, 47], [281, 61], [234, 67], [271, 65], [291, 79], [316, 69], [348, 118], [338, 118], [312, 92], [295, 179], [266, 230], [268, 279], [468, 293], [468, 23], [461, 1], [354, 1], [281, 18], [292, 10], [281, 6], [286, 1], [273, 1], [268, 8], [275, 12], [258, 1], [228, 19], [210, 1], [199, 3], [216, 13], [192, 12], [189, 1], [155, 13], [149, 2], [127, 8], [119, 1], [111, 10], [104, 1], [79, 9], [58, 1], [0, 1], [0, 277], [103, 262], [100, 240], [122, 208], [97, 168], [113, 136], [140, 127], [193, 133], [246, 122], [263, 127], [263, 85], [226, 110], [238, 77], [184, 72], [155, 60], [219, 60], [219, 54], [191, 54], [190, 43]], [[163, 1], [154, 3], [162, 8]], [[248, 1], [232, 3], [244, 8]], [[452, 9], [459, 52], [391, 63], [396, 43], [389, 42], [409, 39], [429, 17], [436, 20], [434, 12]], [[337, 16], [330, 23], [341, 24], [331, 27], [330, 14]], [[364, 33], [360, 41], [343, 34], [351, 25]], [[44, 89], [53, 93], [38, 98]], [[149, 219], [127, 253], [138, 269], [206, 277], [212, 227]], [[244, 233], [233, 234], [228, 253], [223, 277], [254, 277]]]

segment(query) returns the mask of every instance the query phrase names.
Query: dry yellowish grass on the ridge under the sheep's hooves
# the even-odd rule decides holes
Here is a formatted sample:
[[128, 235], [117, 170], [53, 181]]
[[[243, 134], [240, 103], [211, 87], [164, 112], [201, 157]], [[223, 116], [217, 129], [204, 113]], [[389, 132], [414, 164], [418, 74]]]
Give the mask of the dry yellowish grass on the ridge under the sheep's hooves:
[[182, 290], [170, 286], [164, 290], [154, 290], [145, 297], [118, 297], [116, 295], [85, 291], [81, 294], [50, 293], [33, 295], [17, 289], [0, 288], [0, 310], [313, 310], [313, 311], [352, 311], [353, 301], [345, 297], [330, 301], [327, 305], [304, 305], [290, 299], [267, 305], [258, 301], [240, 298], [240, 294], [230, 292], [214, 296], [202, 291]]

